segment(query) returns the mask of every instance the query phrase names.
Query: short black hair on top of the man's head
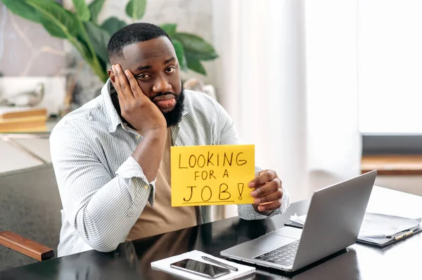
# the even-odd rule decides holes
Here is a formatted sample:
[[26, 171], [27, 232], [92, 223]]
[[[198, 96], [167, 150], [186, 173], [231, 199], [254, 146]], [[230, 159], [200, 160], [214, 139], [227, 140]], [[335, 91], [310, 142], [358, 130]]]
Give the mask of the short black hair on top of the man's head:
[[157, 25], [147, 22], [136, 22], [127, 25], [122, 29], [117, 30], [117, 32], [110, 37], [107, 46], [108, 58], [111, 59], [115, 56], [122, 57], [122, 50], [125, 46], [152, 40], [160, 36], [166, 36], [172, 42], [169, 34]]

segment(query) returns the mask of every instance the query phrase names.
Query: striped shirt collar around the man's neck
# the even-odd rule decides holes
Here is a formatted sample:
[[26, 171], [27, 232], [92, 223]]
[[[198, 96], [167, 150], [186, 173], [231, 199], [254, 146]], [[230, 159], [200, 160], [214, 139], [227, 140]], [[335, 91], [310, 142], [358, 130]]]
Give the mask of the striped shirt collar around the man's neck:
[[[113, 86], [111, 86], [110, 79], [108, 79], [106, 81], [106, 84], [104, 84], [103, 88], [101, 88], [101, 95], [103, 96], [104, 105], [106, 107], [106, 115], [108, 116], [108, 119], [109, 119], [108, 132], [110, 133], [115, 132], [119, 124], [122, 126], [124, 124], [119, 114], [117, 113], [117, 110], [115, 109], [113, 105], [113, 100], [111, 100], [111, 94], [113, 92], [115, 92], [115, 89], [113, 88]], [[182, 116], [188, 114], [188, 109], [187, 109], [188, 102], [186, 102], [186, 99], [188, 99], [188, 96], [186, 95], [186, 91], [185, 91], [185, 100], [184, 100], [185, 106], [184, 106]], [[179, 124], [177, 124], [177, 126], [179, 126]]]

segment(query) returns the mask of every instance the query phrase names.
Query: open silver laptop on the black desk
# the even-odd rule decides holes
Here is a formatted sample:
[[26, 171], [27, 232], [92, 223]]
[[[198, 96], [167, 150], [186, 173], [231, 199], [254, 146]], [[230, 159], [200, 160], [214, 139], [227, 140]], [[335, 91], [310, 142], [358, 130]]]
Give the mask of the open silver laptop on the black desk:
[[296, 272], [356, 243], [377, 171], [319, 189], [303, 229], [281, 227], [221, 251], [224, 257]]

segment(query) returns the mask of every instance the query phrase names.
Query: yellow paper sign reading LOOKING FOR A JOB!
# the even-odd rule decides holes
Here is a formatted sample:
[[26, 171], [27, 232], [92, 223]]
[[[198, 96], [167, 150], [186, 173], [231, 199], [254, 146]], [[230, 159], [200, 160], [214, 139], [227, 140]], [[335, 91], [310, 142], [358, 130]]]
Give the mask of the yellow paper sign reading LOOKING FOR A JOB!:
[[172, 206], [252, 204], [254, 145], [172, 147]]

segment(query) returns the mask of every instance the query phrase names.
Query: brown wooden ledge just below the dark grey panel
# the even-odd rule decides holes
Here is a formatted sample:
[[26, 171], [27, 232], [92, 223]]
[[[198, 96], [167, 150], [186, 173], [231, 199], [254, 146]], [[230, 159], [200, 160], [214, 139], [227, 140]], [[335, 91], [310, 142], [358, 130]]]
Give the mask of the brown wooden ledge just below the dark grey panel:
[[422, 154], [379, 154], [362, 156], [361, 170], [378, 175], [422, 175]]

